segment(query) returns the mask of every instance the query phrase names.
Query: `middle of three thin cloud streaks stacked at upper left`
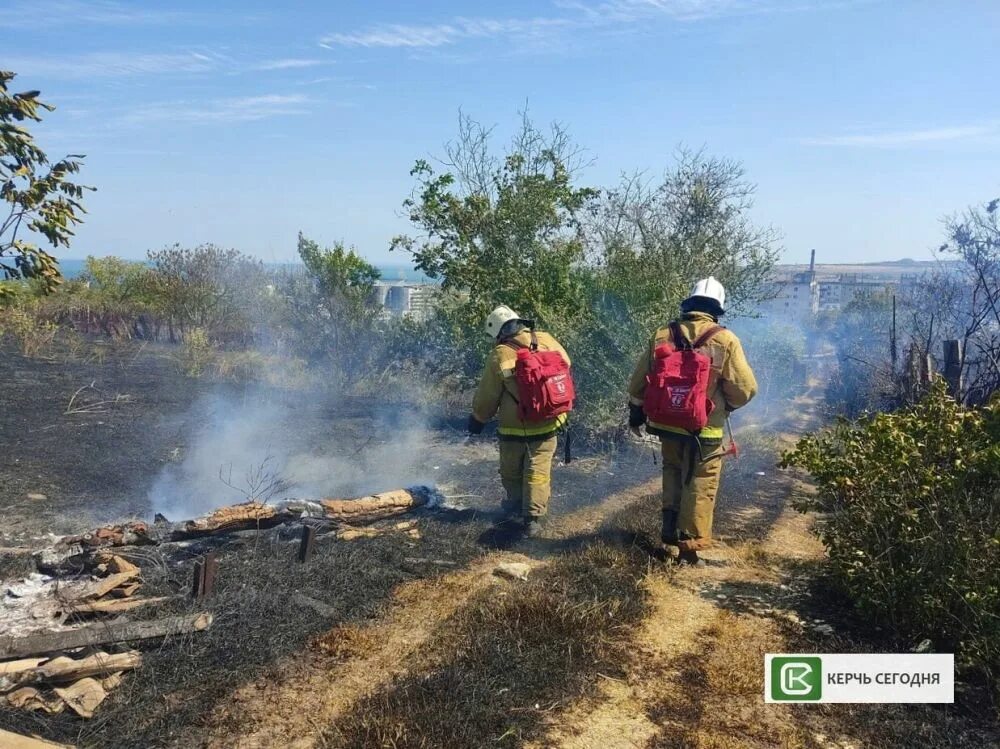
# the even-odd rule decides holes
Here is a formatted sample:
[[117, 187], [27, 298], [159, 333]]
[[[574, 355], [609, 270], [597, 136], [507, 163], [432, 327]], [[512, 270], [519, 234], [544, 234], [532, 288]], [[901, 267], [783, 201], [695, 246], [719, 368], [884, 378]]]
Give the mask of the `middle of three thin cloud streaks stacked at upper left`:
[[203, 52], [127, 53], [95, 52], [78, 57], [8, 59], [12, 70], [48, 78], [117, 78], [152, 73], [207, 73], [226, 62], [221, 55]]

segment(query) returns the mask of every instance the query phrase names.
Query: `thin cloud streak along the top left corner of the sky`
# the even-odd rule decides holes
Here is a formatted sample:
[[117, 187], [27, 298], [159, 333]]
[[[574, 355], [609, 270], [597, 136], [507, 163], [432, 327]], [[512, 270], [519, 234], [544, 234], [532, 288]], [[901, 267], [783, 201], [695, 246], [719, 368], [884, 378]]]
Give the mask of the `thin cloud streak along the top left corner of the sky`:
[[188, 14], [102, 0], [20, 0], [0, 9], [0, 28], [64, 25], [122, 26], [173, 23]]

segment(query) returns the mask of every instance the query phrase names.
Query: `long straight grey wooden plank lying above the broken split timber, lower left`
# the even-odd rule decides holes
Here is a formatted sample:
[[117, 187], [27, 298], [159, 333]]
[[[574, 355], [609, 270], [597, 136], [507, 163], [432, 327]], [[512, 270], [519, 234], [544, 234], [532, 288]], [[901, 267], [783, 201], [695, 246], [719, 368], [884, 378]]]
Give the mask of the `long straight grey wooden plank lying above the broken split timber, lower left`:
[[40, 653], [52, 653], [88, 645], [104, 645], [111, 642], [148, 640], [187, 632], [201, 632], [212, 626], [212, 615], [208, 612], [171, 616], [147, 622], [121, 622], [117, 624], [95, 624], [65, 632], [44, 632], [27, 637], [0, 637], [0, 658], [24, 658]]

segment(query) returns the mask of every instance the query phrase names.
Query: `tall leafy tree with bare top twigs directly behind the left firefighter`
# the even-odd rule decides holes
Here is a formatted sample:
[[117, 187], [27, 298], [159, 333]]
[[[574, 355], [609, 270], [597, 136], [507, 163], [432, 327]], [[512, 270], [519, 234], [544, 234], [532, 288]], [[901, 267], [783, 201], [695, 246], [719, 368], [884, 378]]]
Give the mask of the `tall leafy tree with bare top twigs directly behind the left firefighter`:
[[573, 184], [579, 150], [561, 127], [542, 132], [526, 114], [503, 155], [491, 147], [492, 130], [461, 115], [445, 171], [419, 160], [410, 172], [417, 188], [404, 208], [420, 233], [392, 249], [441, 280], [446, 312], [465, 331], [497, 304], [550, 325], [582, 312], [580, 213], [597, 193]]

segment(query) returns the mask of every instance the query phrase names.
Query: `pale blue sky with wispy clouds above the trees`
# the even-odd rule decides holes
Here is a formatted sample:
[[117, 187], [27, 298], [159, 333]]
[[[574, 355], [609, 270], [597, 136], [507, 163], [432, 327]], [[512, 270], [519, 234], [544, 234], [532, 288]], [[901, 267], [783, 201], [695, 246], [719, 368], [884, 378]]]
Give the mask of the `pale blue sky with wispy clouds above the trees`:
[[72, 257], [214, 242], [294, 257], [299, 230], [404, 263], [415, 159], [461, 108], [504, 138], [527, 102], [594, 163], [679, 144], [744, 163], [787, 262], [928, 258], [943, 215], [1000, 195], [1000, 3], [5, 0], [0, 67], [87, 154]]

